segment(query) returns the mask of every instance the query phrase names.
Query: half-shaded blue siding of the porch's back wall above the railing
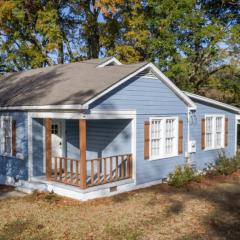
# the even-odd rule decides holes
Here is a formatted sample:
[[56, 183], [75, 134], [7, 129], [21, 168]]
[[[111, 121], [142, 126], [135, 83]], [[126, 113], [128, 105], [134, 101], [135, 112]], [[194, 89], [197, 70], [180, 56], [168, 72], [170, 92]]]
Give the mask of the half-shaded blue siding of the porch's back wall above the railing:
[[[77, 120], [66, 121], [67, 156], [80, 158]], [[87, 159], [131, 153], [130, 120], [87, 120]]]

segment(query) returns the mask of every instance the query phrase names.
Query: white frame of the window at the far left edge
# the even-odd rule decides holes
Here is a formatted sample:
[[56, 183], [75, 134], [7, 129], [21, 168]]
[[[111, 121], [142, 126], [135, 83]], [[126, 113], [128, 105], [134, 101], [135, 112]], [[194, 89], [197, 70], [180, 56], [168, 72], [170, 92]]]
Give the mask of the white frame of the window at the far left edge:
[[[6, 152], [5, 150], [5, 133], [4, 133], [4, 120], [9, 120], [10, 121], [10, 152]], [[1, 125], [0, 125], [0, 138], [1, 138], [1, 146], [0, 146], [0, 151], [1, 155], [4, 156], [12, 156], [12, 117], [11, 116], [1, 116], [0, 118]]]

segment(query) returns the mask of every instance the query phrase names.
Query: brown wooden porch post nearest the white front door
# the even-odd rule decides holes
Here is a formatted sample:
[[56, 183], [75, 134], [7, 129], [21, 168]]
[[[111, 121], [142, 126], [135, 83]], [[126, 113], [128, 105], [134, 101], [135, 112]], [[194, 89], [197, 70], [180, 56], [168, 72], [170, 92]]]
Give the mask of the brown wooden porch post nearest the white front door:
[[45, 154], [47, 179], [52, 176], [52, 119], [44, 119], [45, 125]]

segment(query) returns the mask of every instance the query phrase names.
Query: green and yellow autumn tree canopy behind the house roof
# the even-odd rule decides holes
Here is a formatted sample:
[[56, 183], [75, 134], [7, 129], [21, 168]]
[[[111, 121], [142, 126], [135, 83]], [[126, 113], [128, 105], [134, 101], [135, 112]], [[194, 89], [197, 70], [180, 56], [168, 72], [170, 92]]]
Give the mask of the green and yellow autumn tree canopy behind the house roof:
[[115, 56], [240, 105], [238, 0], [0, 0], [0, 73]]

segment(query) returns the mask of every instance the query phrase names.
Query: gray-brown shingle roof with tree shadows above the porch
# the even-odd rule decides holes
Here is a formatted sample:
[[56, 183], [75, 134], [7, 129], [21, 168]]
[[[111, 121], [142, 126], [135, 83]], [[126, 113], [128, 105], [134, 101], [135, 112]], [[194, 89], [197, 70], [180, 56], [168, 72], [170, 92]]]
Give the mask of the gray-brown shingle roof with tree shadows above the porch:
[[0, 106], [84, 104], [147, 63], [97, 68], [92, 59], [13, 73], [0, 80]]

